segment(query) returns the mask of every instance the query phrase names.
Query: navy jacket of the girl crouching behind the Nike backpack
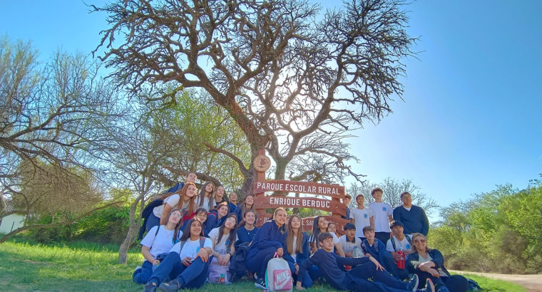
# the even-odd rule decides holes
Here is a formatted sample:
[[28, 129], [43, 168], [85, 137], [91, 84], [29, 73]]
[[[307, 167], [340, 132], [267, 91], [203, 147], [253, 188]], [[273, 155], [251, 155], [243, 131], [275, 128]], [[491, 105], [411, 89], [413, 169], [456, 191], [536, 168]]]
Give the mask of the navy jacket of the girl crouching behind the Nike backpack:
[[257, 254], [258, 251], [267, 248], [286, 250], [286, 229], [282, 225], [280, 228], [275, 223], [275, 220], [265, 222], [252, 239], [252, 244], [248, 247], [247, 258]]

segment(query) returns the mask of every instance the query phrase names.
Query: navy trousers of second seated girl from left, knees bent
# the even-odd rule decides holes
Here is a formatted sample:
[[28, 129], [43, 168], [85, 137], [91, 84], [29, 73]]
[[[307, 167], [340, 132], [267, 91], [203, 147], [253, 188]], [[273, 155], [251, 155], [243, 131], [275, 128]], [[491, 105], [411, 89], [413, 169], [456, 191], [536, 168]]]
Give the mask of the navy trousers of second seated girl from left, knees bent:
[[177, 278], [180, 288], [201, 288], [209, 276], [209, 261], [204, 262], [197, 258], [190, 266], [185, 266], [181, 263], [179, 254], [172, 251], [155, 269], [149, 282], [154, 282], [158, 286], [169, 277]]

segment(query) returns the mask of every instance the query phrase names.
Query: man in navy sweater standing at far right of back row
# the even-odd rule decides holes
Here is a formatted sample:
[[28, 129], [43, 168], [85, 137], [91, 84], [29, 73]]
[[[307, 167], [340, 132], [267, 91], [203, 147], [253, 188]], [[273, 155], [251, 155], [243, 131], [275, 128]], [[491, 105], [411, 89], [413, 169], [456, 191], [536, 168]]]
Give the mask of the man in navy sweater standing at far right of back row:
[[409, 192], [401, 193], [402, 206], [394, 209], [394, 219], [402, 221], [404, 224], [404, 234], [414, 234], [416, 232], [427, 236], [429, 232], [429, 219], [424, 209], [412, 204], [412, 197]]

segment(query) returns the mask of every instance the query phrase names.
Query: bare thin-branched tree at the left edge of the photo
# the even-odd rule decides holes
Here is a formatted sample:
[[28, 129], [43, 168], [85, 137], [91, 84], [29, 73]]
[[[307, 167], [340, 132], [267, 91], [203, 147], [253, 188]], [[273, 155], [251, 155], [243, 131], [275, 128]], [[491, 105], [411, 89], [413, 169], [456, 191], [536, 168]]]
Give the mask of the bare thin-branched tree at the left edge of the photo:
[[16, 203], [11, 213], [39, 217], [69, 211], [77, 217], [116, 203], [101, 202], [93, 167], [111, 141], [106, 127], [122, 116], [118, 95], [98, 75], [98, 63], [58, 52], [39, 66], [29, 43], [14, 45], [4, 38], [0, 96], [0, 184]]

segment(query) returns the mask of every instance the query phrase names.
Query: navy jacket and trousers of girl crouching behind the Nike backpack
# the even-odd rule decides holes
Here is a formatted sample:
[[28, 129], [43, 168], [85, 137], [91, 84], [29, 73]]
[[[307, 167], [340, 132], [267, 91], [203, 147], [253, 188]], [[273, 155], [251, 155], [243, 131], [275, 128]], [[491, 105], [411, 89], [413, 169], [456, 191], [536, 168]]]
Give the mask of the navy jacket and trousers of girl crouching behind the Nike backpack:
[[257, 273], [259, 278], [265, 276], [267, 262], [272, 259], [277, 249], [285, 250], [285, 226], [277, 226], [275, 220], [265, 222], [256, 232], [252, 244], [248, 247], [246, 264], [249, 271]]

